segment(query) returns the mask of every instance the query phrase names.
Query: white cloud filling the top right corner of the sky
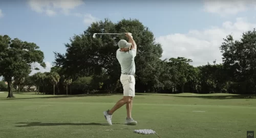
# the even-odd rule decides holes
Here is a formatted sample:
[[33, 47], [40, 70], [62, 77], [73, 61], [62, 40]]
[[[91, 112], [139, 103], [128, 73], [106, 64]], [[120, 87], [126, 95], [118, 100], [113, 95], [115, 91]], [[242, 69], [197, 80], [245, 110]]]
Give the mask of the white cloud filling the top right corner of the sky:
[[[210, 13], [217, 13], [221, 16], [234, 15], [239, 12], [244, 12], [248, 8], [256, 7], [256, 1], [254, 0], [205, 0], [204, 10]], [[256, 9], [256, 8], [255, 8]]]

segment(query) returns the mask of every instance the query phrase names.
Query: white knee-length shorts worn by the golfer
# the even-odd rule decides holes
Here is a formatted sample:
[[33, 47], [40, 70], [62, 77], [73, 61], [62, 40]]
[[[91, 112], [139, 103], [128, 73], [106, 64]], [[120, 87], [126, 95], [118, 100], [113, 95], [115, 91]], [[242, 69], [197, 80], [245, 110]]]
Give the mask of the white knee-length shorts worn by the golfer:
[[135, 77], [121, 74], [120, 81], [123, 85], [123, 96], [135, 97]]

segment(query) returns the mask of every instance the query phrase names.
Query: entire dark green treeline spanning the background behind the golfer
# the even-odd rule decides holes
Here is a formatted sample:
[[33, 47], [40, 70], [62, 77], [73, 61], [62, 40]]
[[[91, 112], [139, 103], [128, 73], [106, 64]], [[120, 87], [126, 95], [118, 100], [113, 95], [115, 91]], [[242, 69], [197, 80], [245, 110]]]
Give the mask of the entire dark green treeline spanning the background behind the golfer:
[[[116, 50], [117, 42], [125, 36], [97, 35], [92, 38], [94, 33], [112, 32], [131, 32], [138, 45], [136, 93], [255, 94], [255, 29], [243, 33], [240, 40], [234, 40], [231, 35], [223, 39], [220, 44], [222, 64], [213, 61], [194, 67], [189, 64], [193, 61], [185, 57], [161, 60], [161, 44], [155, 42], [153, 33], [137, 19], [122, 19], [117, 23], [105, 19], [93, 23], [83, 34], [74, 35], [70, 43], [65, 44], [65, 54], [54, 52], [51, 72], [33, 76], [28, 76], [30, 63], [45, 66], [44, 54], [37, 50], [39, 47], [35, 43], [6, 40], [9, 36], [0, 36], [0, 49], [6, 47], [6, 53], [11, 53], [0, 52], [0, 75], [10, 85], [22, 84], [17, 83], [19, 78], [25, 78], [24, 82], [31, 78], [44, 94], [122, 93]], [[23, 52], [15, 56], [12, 54], [15, 51]], [[13, 80], [16, 81], [12, 83]]]

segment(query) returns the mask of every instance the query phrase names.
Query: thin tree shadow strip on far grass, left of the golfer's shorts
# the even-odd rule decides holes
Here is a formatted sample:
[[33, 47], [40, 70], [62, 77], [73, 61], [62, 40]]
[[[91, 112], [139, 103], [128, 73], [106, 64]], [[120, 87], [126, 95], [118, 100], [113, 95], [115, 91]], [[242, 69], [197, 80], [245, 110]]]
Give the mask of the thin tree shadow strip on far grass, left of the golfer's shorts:
[[[14, 94], [15, 96], [16, 94]], [[39, 96], [42, 96], [42, 97], [28, 97], [28, 98], [6, 98], [6, 99], [2, 99], [2, 100], [17, 100], [17, 99], [45, 99], [45, 98], [72, 98], [72, 97], [95, 97], [95, 96], [114, 96], [114, 95], [121, 95], [121, 94], [83, 94], [83, 95], [68, 95], [68, 96], [58, 96], [58, 95], [55, 95], [55, 96], [49, 96], [49, 95], [39, 95]], [[37, 95], [38, 96], [38, 95]]]

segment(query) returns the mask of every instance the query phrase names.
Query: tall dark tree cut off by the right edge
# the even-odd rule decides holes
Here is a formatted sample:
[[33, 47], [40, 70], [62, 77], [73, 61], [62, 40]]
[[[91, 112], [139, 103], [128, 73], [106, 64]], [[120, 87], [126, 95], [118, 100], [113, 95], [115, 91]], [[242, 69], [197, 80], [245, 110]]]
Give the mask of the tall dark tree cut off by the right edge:
[[240, 40], [228, 35], [220, 50], [230, 81], [240, 83], [247, 94], [256, 91], [256, 30], [243, 33]]

